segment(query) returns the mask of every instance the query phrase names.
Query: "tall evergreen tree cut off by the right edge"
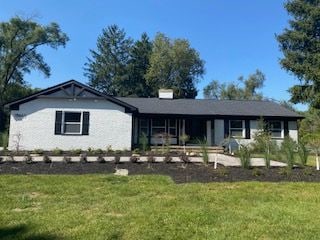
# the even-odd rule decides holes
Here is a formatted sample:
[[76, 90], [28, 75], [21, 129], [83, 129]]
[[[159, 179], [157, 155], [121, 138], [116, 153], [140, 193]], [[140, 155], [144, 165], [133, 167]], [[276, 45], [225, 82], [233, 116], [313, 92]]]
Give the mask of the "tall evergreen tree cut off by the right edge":
[[289, 89], [291, 101], [320, 108], [320, 1], [290, 0], [285, 8], [292, 19], [277, 36], [280, 64], [300, 80]]

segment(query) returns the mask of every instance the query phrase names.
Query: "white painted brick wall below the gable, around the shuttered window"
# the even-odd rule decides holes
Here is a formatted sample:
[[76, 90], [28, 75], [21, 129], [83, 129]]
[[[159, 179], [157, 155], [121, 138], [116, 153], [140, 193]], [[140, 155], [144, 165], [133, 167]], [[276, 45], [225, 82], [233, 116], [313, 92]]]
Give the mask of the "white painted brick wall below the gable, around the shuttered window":
[[[55, 112], [89, 111], [89, 135], [55, 135]], [[20, 134], [20, 147], [25, 150], [56, 147], [68, 149], [131, 148], [132, 115], [106, 100], [36, 99], [20, 105], [10, 117], [9, 149], [15, 149]]]

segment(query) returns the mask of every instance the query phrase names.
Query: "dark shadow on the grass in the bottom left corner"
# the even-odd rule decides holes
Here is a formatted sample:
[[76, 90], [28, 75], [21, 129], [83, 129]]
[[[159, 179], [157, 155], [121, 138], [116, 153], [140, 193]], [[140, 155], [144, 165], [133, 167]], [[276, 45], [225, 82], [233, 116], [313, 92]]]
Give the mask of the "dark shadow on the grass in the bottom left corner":
[[32, 233], [32, 228], [25, 224], [19, 224], [9, 227], [0, 227], [1, 240], [62, 240], [65, 238], [58, 237], [53, 234], [47, 233]]

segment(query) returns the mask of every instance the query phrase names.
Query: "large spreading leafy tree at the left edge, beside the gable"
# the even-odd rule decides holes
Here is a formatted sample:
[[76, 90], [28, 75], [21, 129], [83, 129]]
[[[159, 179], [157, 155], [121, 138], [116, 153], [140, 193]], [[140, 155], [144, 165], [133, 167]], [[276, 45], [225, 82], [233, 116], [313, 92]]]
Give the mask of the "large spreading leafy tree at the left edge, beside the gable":
[[38, 52], [39, 47], [57, 49], [67, 41], [67, 35], [57, 23], [43, 26], [20, 17], [0, 23], [0, 130], [5, 125], [3, 105], [7, 100], [19, 97], [11, 90], [21, 90], [26, 85], [24, 74], [38, 70], [46, 77], [50, 76], [50, 67]]

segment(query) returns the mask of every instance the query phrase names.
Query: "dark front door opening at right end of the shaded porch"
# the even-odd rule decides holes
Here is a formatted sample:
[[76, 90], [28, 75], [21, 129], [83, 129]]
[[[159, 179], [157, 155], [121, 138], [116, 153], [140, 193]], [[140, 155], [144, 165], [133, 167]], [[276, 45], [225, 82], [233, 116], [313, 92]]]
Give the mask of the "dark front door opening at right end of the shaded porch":
[[206, 137], [206, 120], [186, 119], [185, 124], [185, 132], [190, 137], [190, 144], [198, 144], [199, 140]]

